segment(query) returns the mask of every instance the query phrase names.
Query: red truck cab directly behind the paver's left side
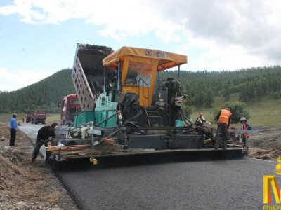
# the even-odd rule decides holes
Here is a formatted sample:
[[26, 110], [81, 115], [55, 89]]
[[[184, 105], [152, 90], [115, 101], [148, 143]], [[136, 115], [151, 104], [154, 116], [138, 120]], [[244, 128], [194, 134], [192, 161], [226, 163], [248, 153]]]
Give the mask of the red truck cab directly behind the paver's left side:
[[74, 116], [81, 111], [76, 94], [69, 94], [63, 98], [60, 105], [60, 125], [73, 125]]

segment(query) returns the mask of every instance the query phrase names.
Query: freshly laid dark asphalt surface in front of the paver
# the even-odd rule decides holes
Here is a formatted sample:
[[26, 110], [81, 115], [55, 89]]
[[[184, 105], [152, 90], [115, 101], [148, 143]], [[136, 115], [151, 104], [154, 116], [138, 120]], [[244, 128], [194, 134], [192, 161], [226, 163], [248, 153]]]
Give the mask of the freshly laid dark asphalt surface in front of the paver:
[[98, 167], [69, 162], [55, 173], [79, 209], [263, 209], [263, 175], [275, 175], [276, 165], [247, 157], [128, 164], [112, 158]]

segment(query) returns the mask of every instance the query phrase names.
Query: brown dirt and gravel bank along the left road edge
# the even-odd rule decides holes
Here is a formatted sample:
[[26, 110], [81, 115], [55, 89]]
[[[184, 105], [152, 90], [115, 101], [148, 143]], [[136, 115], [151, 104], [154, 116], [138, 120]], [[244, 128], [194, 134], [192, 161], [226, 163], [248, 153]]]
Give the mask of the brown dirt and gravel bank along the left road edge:
[[0, 209], [77, 209], [44, 160], [31, 164], [32, 144], [18, 131], [15, 147], [0, 124]]

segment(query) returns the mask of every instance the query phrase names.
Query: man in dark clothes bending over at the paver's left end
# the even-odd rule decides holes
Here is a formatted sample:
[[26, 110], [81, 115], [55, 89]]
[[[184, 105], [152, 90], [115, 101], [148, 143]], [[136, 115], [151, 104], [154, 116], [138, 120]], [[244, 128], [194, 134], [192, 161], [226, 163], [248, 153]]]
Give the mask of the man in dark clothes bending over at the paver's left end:
[[[48, 146], [48, 141], [51, 138], [55, 138], [55, 127], [58, 126], [58, 123], [53, 123], [50, 125], [45, 125], [44, 127], [41, 127], [38, 130], [38, 134], [35, 141], [35, 147], [32, 153], [32, 163], [35, 161], [35, 158], [37, 158], [37, 155], [39, 154], [41, 146], [44, 144], [45, 146]], [[46, 153], [46, 162], [48, 162], [50, 154]]]

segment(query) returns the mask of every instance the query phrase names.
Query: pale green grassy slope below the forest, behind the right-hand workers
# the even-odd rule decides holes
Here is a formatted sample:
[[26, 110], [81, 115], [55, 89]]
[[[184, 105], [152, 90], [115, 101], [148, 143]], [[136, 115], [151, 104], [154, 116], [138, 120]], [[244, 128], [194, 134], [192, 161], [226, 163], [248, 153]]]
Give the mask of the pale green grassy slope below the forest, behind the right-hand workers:
[[[237, 101], [238, 96], [234, 94], [230, 102]], [[213, 108], [210, 109], [192, 109], [192, 118], [196, 120], [198, 113], [203, 112], [206, 120], [215, 123], [214, 111], [219, 110], [221, 106], [226, 104], [223, 97], [216, 97]], [[281, 99], [273, 100], [265, 98], [259, 102], [247, 104], [246, 109], [249, 111], [249, 123], [252, 127], [265, 126], [265, 127], [281, 127]]]

